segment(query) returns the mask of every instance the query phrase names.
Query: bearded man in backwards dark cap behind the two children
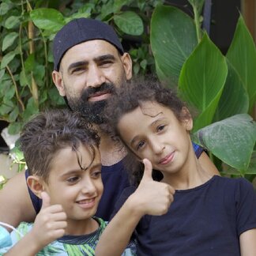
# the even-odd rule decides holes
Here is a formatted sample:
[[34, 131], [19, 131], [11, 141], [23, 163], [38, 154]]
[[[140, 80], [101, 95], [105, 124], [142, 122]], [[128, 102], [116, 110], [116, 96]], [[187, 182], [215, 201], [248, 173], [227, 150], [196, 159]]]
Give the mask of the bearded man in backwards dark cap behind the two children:
[[[115, 87], [131, 79], [132, 61], [113, 28], [85, 18], [70, 21], [57, 33], [53, 51], [52, 78], [59, 94], [73, 111], [80, 111], [98, 127], [104, 194], [96, 216], [108, 220], [115, 201], [130, 184], [122, 164], [125, 150], [104, 134], [99, 125], [104, 122], [104, 106]], [[218, 174], [205, 152], [199, 160], [206, 170]], [[10, 198], [10, 190], [17, 196]], [[38, 198], [28, 190], [24, 172], [15, 175], [0, 191], [0, 202], [0, 221], [13, 226], [33, 221], [41, 207]]]

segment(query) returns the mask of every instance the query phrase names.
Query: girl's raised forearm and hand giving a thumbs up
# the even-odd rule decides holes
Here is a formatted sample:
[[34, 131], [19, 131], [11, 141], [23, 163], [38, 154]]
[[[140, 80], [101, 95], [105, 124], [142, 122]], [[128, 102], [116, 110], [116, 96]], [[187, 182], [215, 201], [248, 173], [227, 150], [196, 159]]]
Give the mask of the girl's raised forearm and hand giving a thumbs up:
[[163, 215], [168, 212], [175, 190], [166, 183], [153, 181], [152, 164], [149, 160], [143, 162], [145, 171], [141, 183], [100, 236], [95, 250], [97, 256], [121, 255], [141, 216]]

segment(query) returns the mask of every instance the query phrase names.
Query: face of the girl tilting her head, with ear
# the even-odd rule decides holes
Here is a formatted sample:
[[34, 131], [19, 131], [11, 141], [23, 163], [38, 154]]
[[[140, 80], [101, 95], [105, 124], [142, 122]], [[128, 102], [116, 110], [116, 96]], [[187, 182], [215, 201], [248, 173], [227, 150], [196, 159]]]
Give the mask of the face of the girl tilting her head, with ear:
[[191, 150], [194, 154], [189, 134], [193, 122], [186, 114], [184, 108], [183, 121], [179, 121], [170, 108], [146, 101], [122, 116], [119, 134], [139, 159], [149, 159], [164, 175], [174, 174], [186, 168]]

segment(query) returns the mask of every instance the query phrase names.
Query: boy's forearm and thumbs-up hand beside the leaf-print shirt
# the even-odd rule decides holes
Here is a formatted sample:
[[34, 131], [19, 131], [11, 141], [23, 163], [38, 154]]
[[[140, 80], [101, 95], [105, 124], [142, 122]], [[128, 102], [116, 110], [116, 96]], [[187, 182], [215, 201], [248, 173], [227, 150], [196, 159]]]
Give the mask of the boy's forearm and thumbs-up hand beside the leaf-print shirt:
[[61, 205], [51, 205], [50, 197], [42, 192], [43, 205], [36, 216], [35, 224], [28, 234], [5, 254], [8, 256], [30, 256], [65, 234], [66, 213]]

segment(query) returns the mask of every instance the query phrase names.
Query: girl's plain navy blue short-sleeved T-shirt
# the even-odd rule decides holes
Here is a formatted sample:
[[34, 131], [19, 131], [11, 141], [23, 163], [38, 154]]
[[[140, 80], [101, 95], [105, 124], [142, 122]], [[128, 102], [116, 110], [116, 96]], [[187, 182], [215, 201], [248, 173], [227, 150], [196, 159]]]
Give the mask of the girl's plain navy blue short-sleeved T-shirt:
[[[134, 190], [124, 190], [115, 213]], [[252, 184], [215, 175], [201, 186], [176, 190], [168, 213], [143, 216], [134, 238], [137, 255], [239, 256], [239, 235], [252, 228], [256, 228]]]

